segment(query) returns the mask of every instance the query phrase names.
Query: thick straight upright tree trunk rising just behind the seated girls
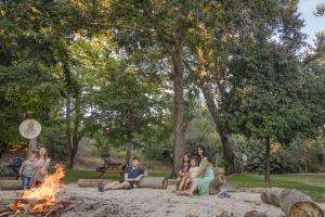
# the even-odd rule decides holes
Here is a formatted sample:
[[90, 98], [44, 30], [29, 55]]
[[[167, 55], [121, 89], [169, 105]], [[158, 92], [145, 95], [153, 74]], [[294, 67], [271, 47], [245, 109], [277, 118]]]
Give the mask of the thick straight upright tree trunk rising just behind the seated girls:
[[173, 62], [173, 175], [180, 169], [185, 152], [184, 122], [184, 68], [183, 68], [184, 33], [181, 27], [174, 34]]

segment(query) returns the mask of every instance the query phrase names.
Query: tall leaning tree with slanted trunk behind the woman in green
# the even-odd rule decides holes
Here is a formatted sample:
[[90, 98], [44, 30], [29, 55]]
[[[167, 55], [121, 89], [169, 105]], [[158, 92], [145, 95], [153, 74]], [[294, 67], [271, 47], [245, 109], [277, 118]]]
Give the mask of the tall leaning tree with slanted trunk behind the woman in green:
[[[272, 7], [270, 7], [272, 5]], [[188, 33], [186, 69], [206, 100], [216, 129], [220, 135], [226, 161], [226, 174], [240, 171], [229, 135], [232, 133], [230, 114], [236, 88], [245, 86], [255, 46], [274, 40], [277, 35], [283, 47], [295, 52], [303, 35], [297, 1], [238, 2], [210, 1], [193, 13], [195, 25]], [[218, 13], [217, 13], [218, 11]], [[244, 27], [245, 26], [245, 27]], [[246, 61], [243, 61], [246, 60]], [[249, 61], [248, 61], [249, 60]], [[233, 68], [240, 62], [240, 67]], [[246, 64], [246, 65], [245, 65]]]

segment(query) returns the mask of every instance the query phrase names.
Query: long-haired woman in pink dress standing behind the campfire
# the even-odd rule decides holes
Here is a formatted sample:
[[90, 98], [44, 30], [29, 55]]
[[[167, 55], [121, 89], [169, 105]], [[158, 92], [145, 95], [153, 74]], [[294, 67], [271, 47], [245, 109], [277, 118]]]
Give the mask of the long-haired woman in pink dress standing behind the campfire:
[[38, 187], [48, 176], [51, 158], [48, 156], [46, 148], [41, 148], [37, 159], [34, 162], [34, 175], [30, 181], [30, 187]]

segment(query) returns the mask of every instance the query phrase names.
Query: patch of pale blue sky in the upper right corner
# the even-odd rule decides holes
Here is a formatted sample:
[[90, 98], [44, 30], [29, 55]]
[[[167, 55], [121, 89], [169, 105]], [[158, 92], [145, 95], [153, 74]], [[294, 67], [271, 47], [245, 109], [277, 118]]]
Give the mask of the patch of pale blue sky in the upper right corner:
[[301, 29], [309, 37], [307, 41], [313, 43], [316, 33], [325, 29], [325, 16], [320, 17], [313, 14], [316, 5], [320, 3], [325, 3], [325, 0], [300, 0], [299, 11], [302, 13], [302, 18], [304, 20], [304, 27]]

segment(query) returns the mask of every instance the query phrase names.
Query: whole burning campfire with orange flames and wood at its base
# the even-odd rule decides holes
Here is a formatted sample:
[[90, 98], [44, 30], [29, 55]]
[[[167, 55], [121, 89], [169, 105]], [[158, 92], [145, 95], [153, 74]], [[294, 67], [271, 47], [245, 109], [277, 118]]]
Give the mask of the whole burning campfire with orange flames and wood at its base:
[[55, 166], [56, 171], [49, 175], [37, 188], [18, 193], [17, 199], [9, 207], [15, 213], [48, 213], [56, 204], [56, 193], [61, 190], [60, 180], [64, 177], [62, 165]]

